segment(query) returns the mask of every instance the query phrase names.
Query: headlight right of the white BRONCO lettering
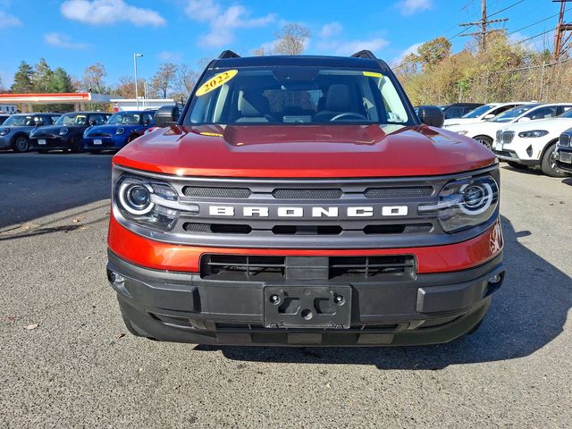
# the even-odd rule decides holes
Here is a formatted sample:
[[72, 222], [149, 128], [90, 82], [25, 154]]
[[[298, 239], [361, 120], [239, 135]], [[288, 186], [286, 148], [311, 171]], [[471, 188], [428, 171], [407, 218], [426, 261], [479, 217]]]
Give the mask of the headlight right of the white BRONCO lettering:
[[490, 175], [450, 181], [434, 206], [419, 206], [420, 214], [436, 212], [445, 232], [456, 232], [487, 222], [499, 205], [499, 186]]

